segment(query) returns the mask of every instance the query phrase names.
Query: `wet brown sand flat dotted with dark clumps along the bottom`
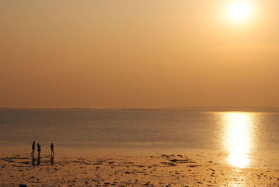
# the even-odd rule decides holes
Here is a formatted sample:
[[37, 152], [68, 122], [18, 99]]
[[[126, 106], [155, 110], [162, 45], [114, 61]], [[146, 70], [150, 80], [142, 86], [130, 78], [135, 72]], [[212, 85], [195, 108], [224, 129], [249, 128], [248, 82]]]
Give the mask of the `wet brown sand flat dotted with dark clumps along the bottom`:
[[45, 154], [38, 165], [15, 152], [1, 153], [0, 186], [279, 186], [276, 168], [239, 169], [219, 162], [221, 153], [58, 154], [53, 163]]

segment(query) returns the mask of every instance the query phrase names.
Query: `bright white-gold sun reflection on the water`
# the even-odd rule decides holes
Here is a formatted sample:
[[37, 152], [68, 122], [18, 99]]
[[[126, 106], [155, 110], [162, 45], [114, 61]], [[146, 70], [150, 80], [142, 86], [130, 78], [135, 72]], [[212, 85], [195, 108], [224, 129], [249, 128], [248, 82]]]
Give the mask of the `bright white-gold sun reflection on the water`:
[[252, 148], [252, 117], [248, 113], [225, 114], [225, 148], [228, 161], [234, 167], [248, 167]]

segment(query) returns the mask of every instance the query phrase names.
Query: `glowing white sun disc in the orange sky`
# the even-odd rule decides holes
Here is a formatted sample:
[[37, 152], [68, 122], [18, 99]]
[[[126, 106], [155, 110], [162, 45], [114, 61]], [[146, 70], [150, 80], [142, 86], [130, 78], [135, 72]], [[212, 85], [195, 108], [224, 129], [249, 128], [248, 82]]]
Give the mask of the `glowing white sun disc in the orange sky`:
[[252, 14], [252, 5], [246, 1], [234, 1], [229, 4], [227, 15], [234, 22], [248, 20]]

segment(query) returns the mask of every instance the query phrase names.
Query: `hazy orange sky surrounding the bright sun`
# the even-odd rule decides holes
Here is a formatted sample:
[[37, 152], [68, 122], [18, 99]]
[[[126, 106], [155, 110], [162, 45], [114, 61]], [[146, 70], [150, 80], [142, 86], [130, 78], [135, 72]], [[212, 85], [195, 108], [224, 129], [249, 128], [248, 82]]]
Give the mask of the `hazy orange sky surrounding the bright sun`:
[[279, 1], [0, 0], [0, 107], [279, 107]]

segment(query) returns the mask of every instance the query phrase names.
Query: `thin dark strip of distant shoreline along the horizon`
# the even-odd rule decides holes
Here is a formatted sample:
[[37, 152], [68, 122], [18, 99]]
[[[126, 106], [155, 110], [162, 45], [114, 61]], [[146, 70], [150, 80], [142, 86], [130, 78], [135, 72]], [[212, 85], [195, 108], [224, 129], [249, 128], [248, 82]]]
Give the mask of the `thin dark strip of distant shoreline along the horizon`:
[[93, 111], [187, 111], [187, 112], [279, 112], [279, 107], [0, 107], [0, 110], [93, 110]]

